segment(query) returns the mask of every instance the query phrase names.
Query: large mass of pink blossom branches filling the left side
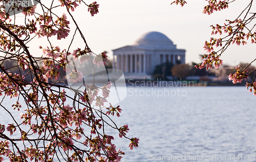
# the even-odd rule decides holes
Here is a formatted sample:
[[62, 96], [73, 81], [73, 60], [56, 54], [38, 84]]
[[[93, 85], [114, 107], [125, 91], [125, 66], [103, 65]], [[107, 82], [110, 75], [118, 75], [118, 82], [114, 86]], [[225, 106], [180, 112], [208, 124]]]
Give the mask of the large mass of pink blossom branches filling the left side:
[[[5, 95], [3, 100], [16, 97], [16, 102], [10, 106], [14, 111], [19, 111], [21, 119], [18, 122], [14, 114], [9, 112], [9, 107], [3, 106], [12, 121], [5, 124], [7, 127], [0, 124], [0, 161], [4, 157], [8, 157], [10, 161], [120, 161], [122, 158], [124, 152], [116, 149], [114, 137], [104, 132], [104, 127], [110, 126], [119, 132], [120, 138], [127, 138], [127, 125], [119, 128], [115, 123], [105, 120], [110, 119], [110, 114], [119, 117], [120, 107], [111, 106], [107, 109], [107, 114], [94, 109], [95, 105], [104, 106], [112, 83], [101, 88], [102, 96], [98, 96], [100, 88], [94, 84], [86, 85], [83, 92], [76, 91], [74, 96], [69, 96], [65, 91], [69, 89], [67, 84], [52, 83], [50, 80], [59, 78], [60, 67], [67, 70], [66, 67], [71, 65], [68, 57], [74, 45], [73, 40], [67, 49], [60, 49], [52, 39], [60, 41], [69, 36], [71, 22], [68, 17], [72, 18], [76, 30], [80, 30], [70, 11], [75, 11], [81, 2], [83, 1], [59, 0], [60, 4], [52, 4], [50, 7], [38, 2], [40, 7], [37, 9], [42, 9], [41, 13], [35, 6], [20, 8], [25, 15], [25, 23], [20, 25], [15, 18], [11, 20], [8, 11], [0, 5], [0, 48], [5, 53], [0, 58], [0, 95]], [[86, 6], [92, 16], [98, 13], [99, 5], [96, 2]], [[55, 13], [58, 7], [65, 7], [67, 15]], [[83, 63], [91, 60], [94, 53], [82, 32], [79, 34], [86, 47], [84, 50], [74, 48], [73, 56], [75, 60], [80, 57], [80, 63]], [[75, 36], [76, 32], [73, 38]], [[50, 44], [44, 48], [39, 46], [42, 56], [38, 58], [32, 56], [28, 47], [28, 42], [37, 37], [46, 37]], [[4, 67], [8, 60], [16, 61], [15, 65]], [[106, 53], [102, 52], [91, 62], [104, 66], [106, 60]], [[12, 70], [16, 70], [16, 73]], [[69, 82], [77, 83], [82, 80], [83, 74], [73, 69], [67, 77]], [[92, 105], [94, 100], [95, 104]], [[130, 141], [131, 149], [138, 147], [139, 139], [132, 138]]]

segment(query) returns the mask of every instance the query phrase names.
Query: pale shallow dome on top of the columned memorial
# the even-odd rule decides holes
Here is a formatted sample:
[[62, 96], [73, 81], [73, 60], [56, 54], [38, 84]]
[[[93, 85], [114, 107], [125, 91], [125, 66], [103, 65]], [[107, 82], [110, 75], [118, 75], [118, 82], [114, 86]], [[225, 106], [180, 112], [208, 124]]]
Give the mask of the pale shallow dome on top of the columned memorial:
[[148, 32], [140, 36], [134, 45], [153, 49], [176, 49], [176, 45], [164, 34]]

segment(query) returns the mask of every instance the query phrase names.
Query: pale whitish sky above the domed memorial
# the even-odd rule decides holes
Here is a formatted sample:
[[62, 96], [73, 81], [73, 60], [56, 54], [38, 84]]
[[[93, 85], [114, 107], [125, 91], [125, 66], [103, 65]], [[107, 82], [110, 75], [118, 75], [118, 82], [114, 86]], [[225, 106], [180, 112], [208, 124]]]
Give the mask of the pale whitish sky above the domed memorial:
[[[249, 2], [237, 0], [224, 11], [205, 15], [202, 13], [203, 7], [207, 5], [204, 0], [187, 0], [184, 7], [170, 5], [172, 1], [99, 0], [99, 13], [95, 16], [92, 17], [87, 8], [82, 7], [73, 13], [92, 50], [109, 51], [109, 56], [112, 57], [112, 49], [132, 45], [140, 35], [157, 31], [172, 40], [177, 48], [186, 50], [186, 63], [200, 63], [199, 54], [206, 53], [203, 49], [204, 42], [209, 41], [210, 37], [220, 38], [219, 35], [210, 35], [210, 25], [222, 25], [225, 19], [236, 18]], [[72, 34], [73, 32], [71, 31]], [[43, 40], [33, 41], [33, 46], [37, 48], [39, 45], [48, 45], [42, 43]], [[74, 48], [84, 47], [78, 37], [75, 40]], [[54, 45], [67, 47], [67, 44], [65, 40], [56, 41]], [[245, 46], [232, 45], [221, 58], [224, 64], [238, 65], [255, 59], [254, 49], [250, 41]]]

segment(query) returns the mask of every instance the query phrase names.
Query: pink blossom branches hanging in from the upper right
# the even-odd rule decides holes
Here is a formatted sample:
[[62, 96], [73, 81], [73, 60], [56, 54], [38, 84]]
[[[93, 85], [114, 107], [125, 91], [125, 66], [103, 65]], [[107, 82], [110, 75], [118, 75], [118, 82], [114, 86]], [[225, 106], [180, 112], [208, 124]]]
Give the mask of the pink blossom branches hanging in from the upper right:
[[[227, 9], [229, 3], [234, 2], [234, 1], [228, 1], [228, 0], [223, 0], [223, 1], [206, 0], [206, 1], [208, 2], [208, 5], [204, 7], [203, 13], [208, 15], [210, 15], [214, 11]], [[180, 4], [181, 6], [186, 4], [186, 2], [182, 0], [176, 0], [173, 3], [177, 5]], [[195, 66], [196, 68], [209, 69], [209, 68], [212, 68], [212, 64], [214, 64], [215, 67], [218, 68], [220, 65], [222, 65], [222, 60], [220, 60], [220, 57], [230, 44], [245, 45], [247, 44], [247, 40], [250, 40], [251, 43], [256, 43], [255, 24], [249, 25], [252, 23], [252, 20], [256, 18], [255, 14], [252, 14], [253, 12], [250, 11], [251, 6], [252, 6], [252, 1], [248, 2], [247, 8], [245, 8], [242, 11], [242, 13], [246, 13], [246, 14], [241, 13], [234, 20], [227, 19], [226, 23], [224, 23], [223, 25], [220, 25], [220, 24], [210, 25], [212, 28], [211, 35], [219, 34], [221, 36], [224, 33], [225, 36], [222, 36], [221, 38], [210, 38], [209, 41], [205, 41], [204, 49], [209, 54], [204, 55], [204, 57], [202, 57], [202, 59], [204, 59], [203, 63], [196, 65]], [[215, 48], [217, 48], [218, 50]], [[229, 74], [228, 76], [229, 80], [232, 80], [233, 84], [241, 83], [243, 78], [247, 79], [248, 75], [252, 74], [253, 72], [251, 71], [248, 74], [246, 74], [246, 72], [248, 72], [245, 70], [246, 68], [243, 71], [240, 71], [239, 68], [240, 66], [236, 67], [237, 72], [234, 74]], [[254, 89], [254, 81], [252, 83], [247, 83], [246, 86], [247, 88], [251, 87], [249, 91], [252, 92], [252, 88]]]

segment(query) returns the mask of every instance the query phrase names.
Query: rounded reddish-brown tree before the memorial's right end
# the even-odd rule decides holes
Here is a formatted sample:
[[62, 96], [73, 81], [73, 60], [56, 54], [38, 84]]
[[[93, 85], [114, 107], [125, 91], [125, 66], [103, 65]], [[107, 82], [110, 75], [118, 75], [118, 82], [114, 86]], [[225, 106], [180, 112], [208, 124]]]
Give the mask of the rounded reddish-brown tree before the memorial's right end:
[[177, 64], [172, 68], [172, 74], [180, 79], [185, 79], [187, 76], [191, 76], [193, 67], [189, 64]]

